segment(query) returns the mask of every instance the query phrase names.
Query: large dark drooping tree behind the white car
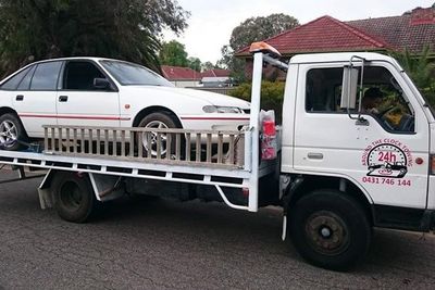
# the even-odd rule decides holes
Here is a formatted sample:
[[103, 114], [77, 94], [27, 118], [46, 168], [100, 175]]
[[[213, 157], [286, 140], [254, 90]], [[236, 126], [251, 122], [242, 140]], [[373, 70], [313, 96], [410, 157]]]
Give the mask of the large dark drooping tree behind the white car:
[[188, 13], [176, 0], [0, 0], [0, 73], [57, 56], [98, 55], [160, 71], [163, 28], [176, 34]]

